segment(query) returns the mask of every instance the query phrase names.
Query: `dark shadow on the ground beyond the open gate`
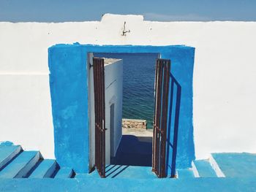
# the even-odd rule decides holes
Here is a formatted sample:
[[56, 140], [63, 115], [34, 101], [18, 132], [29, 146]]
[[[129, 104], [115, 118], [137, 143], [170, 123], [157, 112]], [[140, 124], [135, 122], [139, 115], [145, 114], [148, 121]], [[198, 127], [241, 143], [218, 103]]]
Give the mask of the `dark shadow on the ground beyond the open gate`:
[[152, 137], [123, 135], [111, 164], [152, 166]]

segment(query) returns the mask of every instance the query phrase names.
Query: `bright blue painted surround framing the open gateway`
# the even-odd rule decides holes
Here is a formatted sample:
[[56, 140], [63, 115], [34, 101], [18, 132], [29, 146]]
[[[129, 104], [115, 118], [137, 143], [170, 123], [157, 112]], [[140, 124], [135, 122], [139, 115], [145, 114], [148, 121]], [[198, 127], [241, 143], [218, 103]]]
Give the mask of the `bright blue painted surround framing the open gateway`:
[[192, 77], [195, 48], [177, 46], [55, 45], [50, 47], [50, 94], [55, 155], [61, 166], [89, 172], [87, 53], [160, 53], [171, 59], [171, 72], [182, 87], [177, 167], [195, 159], [192, 124]]

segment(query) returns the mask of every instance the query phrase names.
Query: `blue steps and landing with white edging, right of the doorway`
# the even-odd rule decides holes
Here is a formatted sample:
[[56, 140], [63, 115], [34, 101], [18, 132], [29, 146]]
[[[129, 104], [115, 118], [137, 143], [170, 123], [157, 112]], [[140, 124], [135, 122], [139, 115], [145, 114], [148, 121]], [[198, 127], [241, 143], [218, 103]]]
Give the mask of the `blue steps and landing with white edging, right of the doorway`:
[[192, 161], [192, 168], [177, 169], [179, 179], [191, 177], [256, 177], [256, 154], [212, 153], [210, 158]]

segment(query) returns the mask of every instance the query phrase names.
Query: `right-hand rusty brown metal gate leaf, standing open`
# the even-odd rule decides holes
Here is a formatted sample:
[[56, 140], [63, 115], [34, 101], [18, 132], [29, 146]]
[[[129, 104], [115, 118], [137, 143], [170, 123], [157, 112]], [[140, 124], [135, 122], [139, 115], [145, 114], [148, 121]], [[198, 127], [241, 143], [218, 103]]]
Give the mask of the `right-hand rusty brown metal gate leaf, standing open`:
[[166, 140], [169, 84], [170, 60], [157, 59], [154, 93], [152, 171], [160, 178], [167, 177]]

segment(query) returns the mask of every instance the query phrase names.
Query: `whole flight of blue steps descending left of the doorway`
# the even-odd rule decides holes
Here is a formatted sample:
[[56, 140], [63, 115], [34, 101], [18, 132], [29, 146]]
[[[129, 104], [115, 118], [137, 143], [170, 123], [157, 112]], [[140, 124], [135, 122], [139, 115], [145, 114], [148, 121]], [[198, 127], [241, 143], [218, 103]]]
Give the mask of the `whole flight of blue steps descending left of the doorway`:
[[20, 145], [0, 145], [0, 179], [72, 177], [72, 169], [44, 159], [39, 151], [24, 151]]

